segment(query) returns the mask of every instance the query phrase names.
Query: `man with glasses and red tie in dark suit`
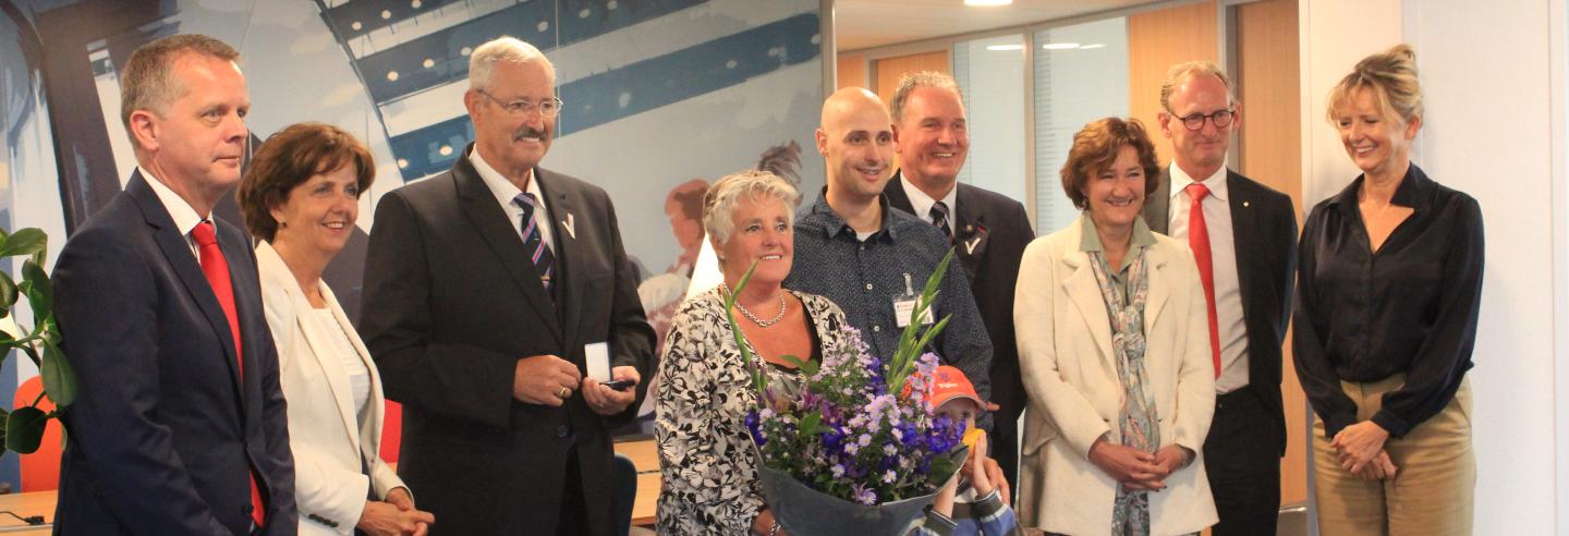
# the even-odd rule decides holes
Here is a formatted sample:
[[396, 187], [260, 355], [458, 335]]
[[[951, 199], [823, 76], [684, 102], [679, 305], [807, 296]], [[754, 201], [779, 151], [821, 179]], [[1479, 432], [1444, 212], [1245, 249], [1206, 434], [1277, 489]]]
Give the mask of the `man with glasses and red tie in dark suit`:
[[1203, 442], [1221, 522], [1214, 533], [1274, 534], [1280, 509], [1280, 345], [1291, 313], [1296, 210], [1291, 197], [1225, 169], [1241, 105], [1213, 63], [1172, 67], [1161, 86], [1172, 165], [1144, 219], [1192, 246], [1208, 301], [1214, 420]]

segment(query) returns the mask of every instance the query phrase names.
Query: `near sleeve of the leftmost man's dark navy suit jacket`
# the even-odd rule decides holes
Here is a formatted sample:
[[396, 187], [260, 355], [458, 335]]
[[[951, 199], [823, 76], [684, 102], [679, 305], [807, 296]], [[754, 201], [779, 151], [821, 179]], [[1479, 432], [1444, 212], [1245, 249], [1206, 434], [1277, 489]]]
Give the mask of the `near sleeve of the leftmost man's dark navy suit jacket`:
[[66, 244], [53, 282], [63, 349], [77, 373], [66, 431], [104, 505], [138, 534], [228, 534], [157, 420], [166, 386], [154, 304], [171, 296], [160, 296], [152, 266], [126, 240], [93, 229]]

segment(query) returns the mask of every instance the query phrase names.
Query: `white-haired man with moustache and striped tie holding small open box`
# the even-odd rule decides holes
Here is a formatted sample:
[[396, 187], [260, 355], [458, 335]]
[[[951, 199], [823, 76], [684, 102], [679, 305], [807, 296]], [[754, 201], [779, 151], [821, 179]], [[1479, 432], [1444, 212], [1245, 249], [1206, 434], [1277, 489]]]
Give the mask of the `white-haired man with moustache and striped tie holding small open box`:
[[[403, 403], [399, 475], [441, 534], [610, 534], [607, 425], [631, 420], [654, 332], [604, 190], [538, 168], [555, 69], [501, 38], [471, 55], [474, 144], [381, 197], [361, 332]], [[587, 378], [609, 343], [612, 390]]]

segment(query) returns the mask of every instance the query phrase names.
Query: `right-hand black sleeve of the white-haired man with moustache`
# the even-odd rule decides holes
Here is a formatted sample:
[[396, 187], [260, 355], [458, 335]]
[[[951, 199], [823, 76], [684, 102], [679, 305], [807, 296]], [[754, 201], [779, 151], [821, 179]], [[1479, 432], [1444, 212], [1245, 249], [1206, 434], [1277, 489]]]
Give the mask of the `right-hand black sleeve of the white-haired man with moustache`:
[[615, 293], [610, 304], [610, 367], [637, 368], [637, 400], [620, 414], [606, 420], [610, 425], [621, 425], [637, 418], [637, 409], [648, 395], [648, 381], [654, 373], [654, 328], [648, 324], [643, 312], [643, 301], [637, 296], [637, 266], [626, 259], [626, 248], [621, 244], [621, 227], [615, 218], [615, 207], [604, 197], [604, 213], [609, 218], [610, 252], [615, 265]]

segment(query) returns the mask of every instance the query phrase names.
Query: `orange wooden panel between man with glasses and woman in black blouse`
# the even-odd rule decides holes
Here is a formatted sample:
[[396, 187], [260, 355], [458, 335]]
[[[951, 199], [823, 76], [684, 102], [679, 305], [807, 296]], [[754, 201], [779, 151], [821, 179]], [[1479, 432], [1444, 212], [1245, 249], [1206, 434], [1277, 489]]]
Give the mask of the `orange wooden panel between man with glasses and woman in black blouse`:
[[[1302, 111], [1296, 0], [1236, 6], [1236, 72], [1243, 127], [1241, 172], [1291, 196], [1302, 212]], [[1287, 335], [1290, 340], [1290, 335]], [[1307, 502], [1307, 398], [1285, 348], [1287, 455], [1280, 462], [1280, 502]]]

